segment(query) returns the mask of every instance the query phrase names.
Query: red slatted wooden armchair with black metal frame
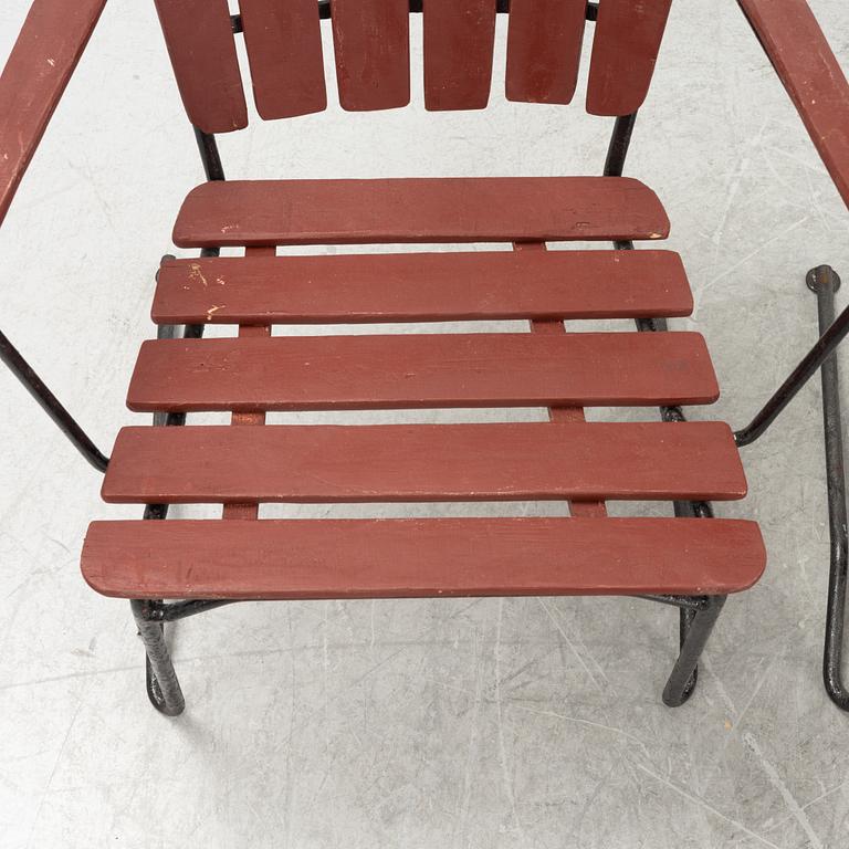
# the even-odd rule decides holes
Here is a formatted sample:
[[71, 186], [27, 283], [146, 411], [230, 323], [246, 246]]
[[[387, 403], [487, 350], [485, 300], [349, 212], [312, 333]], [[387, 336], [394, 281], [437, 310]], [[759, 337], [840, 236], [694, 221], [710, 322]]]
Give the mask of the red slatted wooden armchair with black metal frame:
[[[35, 0], [0, 80], [0, 214], [105, 0]], [[804, 0], [741, 0], [849, 200], [846, 81]], [[248, 123], [234, 38], [245, 40], [256, 108], [326, 107], [321, 19], [331, 18], [345, 109], [407, 105], [408, 0], [156, 0], [208, 181], [177, 214], [128, 406], [156, 427], [123, 429], [111, 459], [87, 439], [6, 337], [8, 365], [106, 472], [103, 497], [146, 504], [142, 521], [92, 523], [82, 555], [98, 593], [130, 599], [148, 694], [182, 711], [164, 623], [244, 599], [629, 595], [680, 609], [680, 654], [663, 692], [683, 703], [725, 597], [761, 576], [753, 522], [714, 518], [741, 499], [737, 451], [772, 422], [842, 338], [832, 325], [750, 428], [688, 422], [719, 395], [704, 340], [670, 332], [692, 297], [669, 221], [622, 177], [670, 0], [511, 0], [506, 96], [573, 99], [587, 21], [587, 111], [616, 118], [604, 176], [227, 181], [214, 134]], [[490, 95], [502, 0], [427, 0], [428, 109]], [[815, 103], [816, 101], [816, 103]], [[610, 250], [546, 252], [548, 241]], [[650, 249], [633, 250], [635, 242]], [[514, 251], [276, 256], [277, 245], [510, 242]], [[244, 256], [220, 258], [223, 247]], [[822, 289], [836, 276], [821, 270]], [[834, 302], [831, 302], [834, 304]], [[834, 305], [832, 305], [834, 311]], [[834, 316], [826, 315], [826, 318]], [[636, 321], [577, 333], [580, 319]], [[515, 319], [530, 333], [272, 336], [275, 324]], [[569, 322], [568, 332], [564, 322]], [[238, 326], [203, 339], [208, 324]], [[825, 324], [830, 322], [825, 321]], [[178, 327], [182, 327], [178, 332]], [[825, 328], [824, 328], [825, 329]], [[584, 408], [660, 408], [659, 422], [588, 423]], [[273, 410], [547, 407], [546, 423], [264, 426]], [[187, 413], [229, 411], [231, 426]], [[563, 518], [259, 520], [268, 502], [560, 500]], [[674, 517], [608, 517], [608, 500], [670, 501]], [[222, 521], [166, 518], [218, 503]], [[164, 601], [163, 599], [177, 599]]]

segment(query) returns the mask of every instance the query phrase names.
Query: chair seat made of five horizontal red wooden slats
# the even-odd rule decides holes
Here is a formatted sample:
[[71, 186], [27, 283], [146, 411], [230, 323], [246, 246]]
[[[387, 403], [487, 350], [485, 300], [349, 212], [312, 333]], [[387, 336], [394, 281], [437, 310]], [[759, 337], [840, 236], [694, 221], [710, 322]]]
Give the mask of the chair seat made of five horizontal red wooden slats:
[[[637, 333], [630, 323], [574, 332], [580, 319], [689, 315], [680, 258], [544, 244], [657, 239], [668, 227], [657, 197], [622, 178], [198, 187], [175, 241], [245, 245], [247, 254], [164, 260], [153, 317], [240, 329], [234, 338], [144, 343], [128, 406], [231, 411], [232, 426], [124, 428], [103, 497], [220, 503], [223, 521], [95, 522], [83, 548], [86, 580], [108, 596], [214, 599], [724, 595], [752, 586], [765, 564], [756, 524], [614, 518], [606, 510], [616, 500], [743, 497], [729, 427], [587, 422], [583, 411], [719, 396], [696, 333]], [[415, 241], [516, 250], [272, 250]], [[275, 324], [502, 319], [528, 319], [531, 332], [270, 333]], [[273, 410], [452, 407], [547, 407], [551, 421], [264, 423]], [[567, 502], [572, 517], [265, 520], [255, 506], [542, 500]]]

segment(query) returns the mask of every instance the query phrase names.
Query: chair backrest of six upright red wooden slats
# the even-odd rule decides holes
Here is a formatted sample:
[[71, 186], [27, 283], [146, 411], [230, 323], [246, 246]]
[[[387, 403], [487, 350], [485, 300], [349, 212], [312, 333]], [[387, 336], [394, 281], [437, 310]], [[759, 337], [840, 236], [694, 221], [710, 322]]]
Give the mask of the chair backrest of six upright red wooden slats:
[[[228, 0], [155, 0], [186, 111], [207, 133], [248, 124]], [[327, 106], [321, 18], [331, 17], [339, 104], [368, 112], [410, 102], [410, 11], [423, 13], [424, 106], [482, 109], [490, 98], [495, 18], [503, 0], [239, 0], [263, 118]], [[672, 0], [600, 0], [587, 111], [619, 116], [646, 98]], [[510, 101], [569, 103], [585, 33], [585, 0], [510, 0]], [[238, 23], [238, 22], [237, 22]], [[235, 27], [239, 30], [239, 27]]]

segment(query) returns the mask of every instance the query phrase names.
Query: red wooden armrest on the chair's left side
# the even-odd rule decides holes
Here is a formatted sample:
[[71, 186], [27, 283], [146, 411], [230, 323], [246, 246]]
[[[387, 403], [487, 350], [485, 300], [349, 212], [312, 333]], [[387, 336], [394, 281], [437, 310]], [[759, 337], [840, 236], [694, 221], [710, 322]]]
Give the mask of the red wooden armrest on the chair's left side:
[[0, 223], [106, 0], [34, 0], [0, 76]]

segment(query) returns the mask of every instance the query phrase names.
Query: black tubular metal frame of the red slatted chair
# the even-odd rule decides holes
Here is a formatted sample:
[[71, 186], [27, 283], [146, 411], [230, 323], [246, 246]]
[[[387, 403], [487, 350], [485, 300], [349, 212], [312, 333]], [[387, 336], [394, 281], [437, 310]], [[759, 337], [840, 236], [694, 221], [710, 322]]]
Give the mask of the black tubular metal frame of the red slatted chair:
[[[420, 12], [421, 0], [410, 0], [410, 12]], [[499, 0], [497, 11], [506, 12], [509, 0]], [[331, 17], [329, 0], [319, 0], [318, 12], [322, 18]], [[598, 3], [588, 2], [586, 18], [595, 21]], [[233, 32], [242, 31], [241, 18], [231, 17]], [[637, 120], [637, 113], [616, 119], [610, 137], [604, 174], [608, 177], [621, 176], [631, 134]], [[224, 171], [213, 135], [195, 128], [198, 150], [208, 180], [223, 180]], [[616, 250], [633, 250], [630, 241], [614, 242]], [[201, 256], [217, 256], [218, 248], [205, 248]], [[847, 585], [847, 511], [845, 497], [845, 478], [842, 468], [842, 441], [840, 431], [840, 405], [837, 386], [837, 361], [835, 349], [849, 333], [849, 308], [835, 321], [835, 292], [839, 279], [828, 269], [820, 266], [808, 275], [808, 285], [817, 293], [819, 303], [819, 326], [821, 336], [813, 349], [801, 360], [773, 398], [764, 406], [753, 421], [735, 433], [737, 446], [746, 446], [758, 439], [772, 424], [782, 410], [796, 396], [814, 373], [821, 367], [824, 415], [826, 422], [826, 462], [828, 473], [829, 517], [831, 531], [831, 580], [827, 614], [826, 657], [824, 675], [826, 689], [838, 706], [849, 710], [849, 692], [840, 678], [840, 657], [842, 648], [842, 617]], [[657, 333], [667, 329], [665, 318], [640, 318], [636, 321], [641, 333]], [[160, 338], [175, 338], [180, 333], [174, 325], [160, 326]], [[186, 325], [184, 338], [200, 338], [203, 325]], [[40, 380], [38, 375], [14, 349], [7, 337], [0, 334], [0, 358], [10, 367], [27, 389], [35, 397], [42, 408], [56, 422], [77, 450], [98, 471], [105, 471], [108, 459], [102, 454], [88, 439], [77, 422], [55, 396]], [[661, 407], [663, 421], [685, 421], [681, 407]], [[179, 427], [186, 421], [186, 413], [169, 412], [154, 416], [154, 424], [159, 427]], [[674, 502], [677, 516], [713, 518], [713, 509], [708, 502]], [[148, 504], [144, 518], [161, 521], [168, 515], [167, 504]], [[710, 638], [716, 620], [725, 604], [725, 596], [671, 596], [643, 595], [650, 601], [657, 601], [679, 608], [679, 656], [663, 689], [663, 702], [669, 706], [683, 704], [693, 693], [698, 682], [698, 664], [702, 650]], [[146, 688], [151, 704], [168, 716], [182, 713], [185, 700], [177, 679], [170, 652], [165, 639], [165, 623], [176, 622], [188, 616], [206, 612], [237, 599], [190, 599], [165, 601], [163, 599], [133, 599], [130, 609], [138, 627], [138, 633], [145, 646]]]

